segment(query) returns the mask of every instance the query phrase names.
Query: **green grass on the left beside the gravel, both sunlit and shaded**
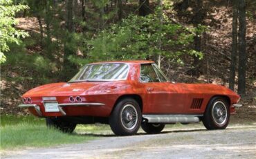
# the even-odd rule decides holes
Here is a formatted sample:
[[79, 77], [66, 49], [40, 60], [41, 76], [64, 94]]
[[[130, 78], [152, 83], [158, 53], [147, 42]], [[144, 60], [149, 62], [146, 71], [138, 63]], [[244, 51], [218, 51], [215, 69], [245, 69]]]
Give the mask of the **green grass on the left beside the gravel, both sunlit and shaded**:
[[91, 131], [93, 133], [105, 128], [106, 126], [78, 126], [74, 133], [68, 134], [55, 129], [48, 129], [44, 118], [1, 115], [0, 149], [10, 150], [21, 147], [49, 147], [58, 144], [81, 143], [97, 137], [80, 134], [76, 131]]

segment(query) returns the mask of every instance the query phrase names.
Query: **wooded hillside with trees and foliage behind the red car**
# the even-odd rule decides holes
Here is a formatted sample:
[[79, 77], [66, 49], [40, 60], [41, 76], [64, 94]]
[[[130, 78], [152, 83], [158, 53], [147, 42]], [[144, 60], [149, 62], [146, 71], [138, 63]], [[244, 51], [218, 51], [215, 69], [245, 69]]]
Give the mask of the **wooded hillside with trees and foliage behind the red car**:
[[154, 60], [174, 82], [256, 101], [255, 0], [0, 0], [1, 114], [90, 62]]

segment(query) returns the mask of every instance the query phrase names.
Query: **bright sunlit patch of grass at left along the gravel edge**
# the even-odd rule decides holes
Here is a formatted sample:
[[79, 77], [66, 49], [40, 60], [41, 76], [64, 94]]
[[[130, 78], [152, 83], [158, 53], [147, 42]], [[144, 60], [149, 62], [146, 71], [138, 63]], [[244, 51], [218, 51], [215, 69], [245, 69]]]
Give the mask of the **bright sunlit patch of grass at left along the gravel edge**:
[[1, 127], [0, 149], [15, 147], [47, 147], [57, 144], [79, 143], [93, 139], [93, 136], [62, 133], [47, 129], [43, 124], [26, 122]]

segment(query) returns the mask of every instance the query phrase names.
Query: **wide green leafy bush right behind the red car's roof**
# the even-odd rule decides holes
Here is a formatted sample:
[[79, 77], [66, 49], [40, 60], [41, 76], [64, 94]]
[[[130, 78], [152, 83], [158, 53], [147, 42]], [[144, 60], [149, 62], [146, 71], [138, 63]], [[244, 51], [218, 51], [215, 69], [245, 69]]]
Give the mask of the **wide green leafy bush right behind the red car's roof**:
[[114, 59], [156, 59], [161, 55], [181, 63], [181, 56], [186, 54], [202, 58], [201, 52], [189, 47], [196, 32], [201, 30], [172, 24], [165, 15], [163, 25], [154, 14], [147, 17], [129, 15], [120, 24], [102, 30], [88, 42], [89, 59], [70, 59], [82, 65], [90, 61]]

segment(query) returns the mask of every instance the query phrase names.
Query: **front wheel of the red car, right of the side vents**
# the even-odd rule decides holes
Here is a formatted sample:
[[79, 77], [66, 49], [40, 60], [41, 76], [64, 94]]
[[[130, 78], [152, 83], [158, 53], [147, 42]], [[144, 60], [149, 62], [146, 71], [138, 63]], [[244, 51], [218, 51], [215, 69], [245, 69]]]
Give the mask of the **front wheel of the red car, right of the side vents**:
[[213, 97], [203, 114], [203, 125], [208, 130], [226, 129], [229, 118], [228, 102], [223, 97]]

